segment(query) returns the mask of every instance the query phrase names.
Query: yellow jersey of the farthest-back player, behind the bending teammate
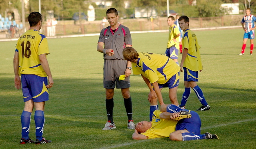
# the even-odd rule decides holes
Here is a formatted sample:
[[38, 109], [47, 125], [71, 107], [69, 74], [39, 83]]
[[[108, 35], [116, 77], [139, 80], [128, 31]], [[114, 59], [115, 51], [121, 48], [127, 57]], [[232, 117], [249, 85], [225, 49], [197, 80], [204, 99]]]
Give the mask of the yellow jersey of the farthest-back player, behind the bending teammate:
[[175, 45], [176, 49], [179, 49], [179, 38], [176, 38], [177, 42], [174, 42], [172, 39], [180, 34], [181, 32], [179, 31], [179, 28], [177, 25], [173, 24], [170, 28], [169, 28], [169, 38], [168, 38], [168, 42], [167, 42], [167, 48], [170, 48], [172, 45]]

